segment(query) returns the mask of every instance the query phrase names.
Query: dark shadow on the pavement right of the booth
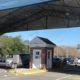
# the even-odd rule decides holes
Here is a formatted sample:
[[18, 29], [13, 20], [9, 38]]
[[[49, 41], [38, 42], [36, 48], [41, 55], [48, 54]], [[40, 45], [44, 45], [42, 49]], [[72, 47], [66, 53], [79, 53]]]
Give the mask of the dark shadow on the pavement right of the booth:
[[58, 73], [66, 73], [71, 75], [80, 75], [80, 66], [78, 65], [68, 65], [62, 68], [55, 68], [53, 70], [49, 70], [49, 72], [58, 72]]

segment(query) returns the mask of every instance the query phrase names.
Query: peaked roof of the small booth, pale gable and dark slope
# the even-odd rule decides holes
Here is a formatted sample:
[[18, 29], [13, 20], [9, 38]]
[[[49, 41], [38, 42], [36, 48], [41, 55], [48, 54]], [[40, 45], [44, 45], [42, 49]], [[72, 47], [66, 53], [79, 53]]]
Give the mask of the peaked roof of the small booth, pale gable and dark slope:
[[52, 41], [50, 41], [47, 38], [43, 38], [43, 37], [36, 37], [34, 39], [32, 39], [29, 43], [30, 47], [36, 47], [36, 48], [41, 48], [41, 47], [55, 47], [56, 44], [53, 43]]

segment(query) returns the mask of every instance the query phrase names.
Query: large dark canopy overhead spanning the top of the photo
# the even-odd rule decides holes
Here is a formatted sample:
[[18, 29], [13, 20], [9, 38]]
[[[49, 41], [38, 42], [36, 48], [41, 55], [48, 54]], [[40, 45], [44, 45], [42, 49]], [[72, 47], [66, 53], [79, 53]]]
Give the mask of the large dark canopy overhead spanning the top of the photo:
[[80, 0], [50, 0], [0, 10], [0, 33], [80, 26]]

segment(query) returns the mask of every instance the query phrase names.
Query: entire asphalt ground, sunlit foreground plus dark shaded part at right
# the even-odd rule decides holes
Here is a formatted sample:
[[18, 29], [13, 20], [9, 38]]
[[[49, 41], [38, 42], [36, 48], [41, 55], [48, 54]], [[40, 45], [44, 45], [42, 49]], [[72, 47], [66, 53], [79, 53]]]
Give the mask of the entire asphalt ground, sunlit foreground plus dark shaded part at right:
[[0, 69], [0, 80], [80, 80], [80, 66], [35, 75], [16, 75]]

